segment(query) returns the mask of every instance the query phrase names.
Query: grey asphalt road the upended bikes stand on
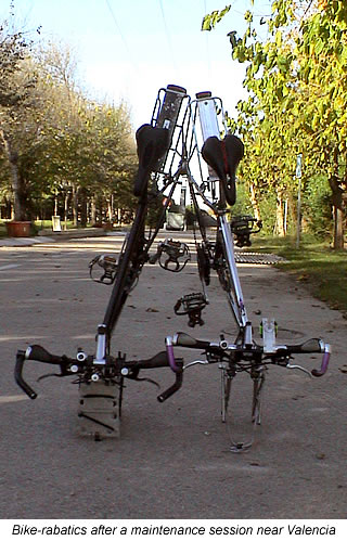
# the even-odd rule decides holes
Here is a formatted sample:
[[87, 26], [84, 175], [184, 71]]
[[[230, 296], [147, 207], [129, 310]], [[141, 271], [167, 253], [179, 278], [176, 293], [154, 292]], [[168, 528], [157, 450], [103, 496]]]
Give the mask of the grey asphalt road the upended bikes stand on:
[[[78, 390], [68, 378], [37, 383], [47, 368], [33, 362], [25, 376], [39, 397], [31, 401], [15, 385], [18, 348], [94, 352], [111, 289], [89, 279], [88, 262], [120, 244], [107, 236], [0, 248], [0, 518], [345, 518], [347, 321], [273, 268], [240, 266], [255, 327], [274, 317], [280, 342], [322, 336], [334, 355], [322, 378], [269, 369], [262, 425], [248, 452], [230, 451], [228, 427], [236, 438], [250, 435], [249, 378], [234, 383], [234, 417], [226, 427], [216, 365], [188, 370], [182, 389], [163, 404], [155, 386], [129, 382], [120, 439], [98, 442], [77, 435]], [[194, 263], [177, 275], [146, 266], [115, 332], [114, 351], [152, 357], [177, 331], [233, 336], [216, 276], [203, 327], [192, 331], [175, 315], [176, 300], [198, 289]], [[319, 368], [320, 359], [303, 363]], [[169, 370], [151, 376], [162, 389], [172, 383]]]

